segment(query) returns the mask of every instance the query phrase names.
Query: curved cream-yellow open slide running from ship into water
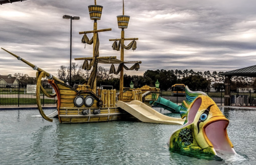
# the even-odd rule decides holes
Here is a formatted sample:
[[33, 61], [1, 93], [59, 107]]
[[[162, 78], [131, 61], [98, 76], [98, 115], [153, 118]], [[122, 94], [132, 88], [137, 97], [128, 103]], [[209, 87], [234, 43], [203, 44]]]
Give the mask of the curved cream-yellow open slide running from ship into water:
[[169, 125], [183, 125], [184, 123], [184, 119], [165, 116], [138, 100], [133, 100], [131, 102], [117, 101], [117, 107], [122, 108], [142, 122]]

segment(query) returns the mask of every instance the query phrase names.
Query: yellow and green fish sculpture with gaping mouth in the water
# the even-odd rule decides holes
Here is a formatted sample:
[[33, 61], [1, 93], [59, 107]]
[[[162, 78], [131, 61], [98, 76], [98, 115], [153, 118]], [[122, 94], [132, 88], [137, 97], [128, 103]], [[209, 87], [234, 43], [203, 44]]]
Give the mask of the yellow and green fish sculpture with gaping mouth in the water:
[[218, 155], [236, 154], [227, 134], [229, 120], [215, 102], [204, 92], [192, 92], [186, 86], [186, 101], [181, 107], [181, 129], [174, 131], [168, 140], [170, 149], [199, 151]]

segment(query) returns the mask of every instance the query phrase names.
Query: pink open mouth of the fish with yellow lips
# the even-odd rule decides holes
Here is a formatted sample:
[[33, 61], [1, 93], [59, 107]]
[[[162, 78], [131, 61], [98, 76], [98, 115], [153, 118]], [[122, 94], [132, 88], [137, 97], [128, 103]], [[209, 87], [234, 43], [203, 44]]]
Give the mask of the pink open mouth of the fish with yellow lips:
[[216, 152], [236, 154], [231, 141], [228, 138], [227, 127], [229, 120], [223, 115], [212, 117], [204, 126], [204, 136], [209, 146]]

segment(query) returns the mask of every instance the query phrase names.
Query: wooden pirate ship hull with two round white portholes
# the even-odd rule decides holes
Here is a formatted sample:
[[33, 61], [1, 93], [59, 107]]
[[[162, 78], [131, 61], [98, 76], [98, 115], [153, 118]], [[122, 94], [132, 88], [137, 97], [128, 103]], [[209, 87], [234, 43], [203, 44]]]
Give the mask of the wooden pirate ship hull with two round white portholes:
[[131, 117], [116, 107], [115, 90], [111, 90], [112, 93], [103, 90], [105, 97], [101, 100], [83, 85], [75, 89], [60, 81], [49, 80], [49, 83], [56, 92], [58, 119], [61, 123], [112, 121]]

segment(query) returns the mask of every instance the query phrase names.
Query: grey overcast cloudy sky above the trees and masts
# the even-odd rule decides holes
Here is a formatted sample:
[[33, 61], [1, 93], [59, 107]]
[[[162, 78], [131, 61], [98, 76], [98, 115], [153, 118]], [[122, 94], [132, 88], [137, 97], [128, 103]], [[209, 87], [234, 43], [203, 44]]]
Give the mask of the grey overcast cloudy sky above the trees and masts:
[[[125, 15], [131, 16], [125, 37], [139, 38], [134, 52], [125, 50], [125, 60], [142, 61], [139, 71], [125, 73], [143, 74], [148, 69], [225, 72], [256, 65], [255, 4], [252, 0], [125, 0]], [[0, 47], [56, 75], [61, 65], [69, 66], [70, 58], [70, 20], [63, 15], [80, 16], [72, 21], [72, 59], [92, 56], [92, 46], [84, 48], [78, 34], [93, 30], [89, 5], [94, 1], [4, 4], [0, 6]], [[108, 39], [121, 36], [116, 15], [122, 15], [123, 2], [97, 0], [97, 5], [104, 7], [98, 29], [112, 28], [99, 33], [100, 56], [120, 58]], [[32, 68], [0, 50], [0, 74], [17, 72], [35, 76]]]

